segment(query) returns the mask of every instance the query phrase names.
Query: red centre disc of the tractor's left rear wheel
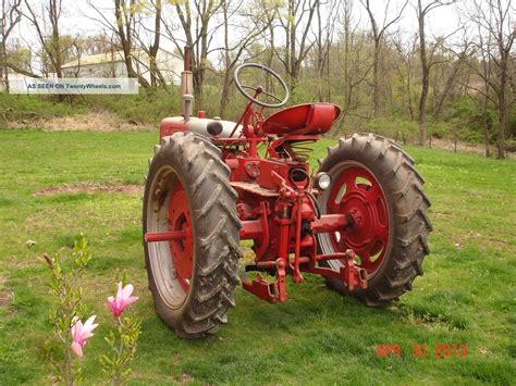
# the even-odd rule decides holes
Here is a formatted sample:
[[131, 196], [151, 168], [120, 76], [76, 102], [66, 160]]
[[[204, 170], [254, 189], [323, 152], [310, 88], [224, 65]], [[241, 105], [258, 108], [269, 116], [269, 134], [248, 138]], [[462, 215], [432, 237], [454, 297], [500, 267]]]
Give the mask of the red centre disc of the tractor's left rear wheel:
[[[188, 200], [179, 178], [170, 191], [169, 231], [192, 231]], [[187, 292], [194, 266], [194, 241], [186, 237], [169, 242], [175, 275], [181, 287]]]

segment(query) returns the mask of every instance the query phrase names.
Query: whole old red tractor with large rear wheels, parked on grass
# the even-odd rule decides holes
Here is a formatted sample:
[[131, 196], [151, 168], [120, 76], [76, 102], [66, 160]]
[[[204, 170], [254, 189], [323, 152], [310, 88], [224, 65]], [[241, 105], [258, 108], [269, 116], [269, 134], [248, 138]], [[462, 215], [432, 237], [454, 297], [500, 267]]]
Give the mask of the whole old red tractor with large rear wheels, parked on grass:
[[[256, 86], [243, 82], [257, 71]], [[306, 103], [265, 117], [266, 108], [288, 99], [283, 79], [247, 63], [234, 82], [248, 99], [238, 122], [202, 111], [192, 116], [185, 58], [182, 115], [160, 125], [143, 226], [161, 319], [182, 337], [202, 337], [226, 323], [238, 283], [263, 300], [284, 302], [288, 275], [294, 283], [322, 275], [330, 287], [372, 307], [410, 290], [431, 231], [414, 160], [390, 139], [355, 134], [329, 148], [310, 172], [310, 145], [331, 128], [339, 107]], [[238, 269], [241, 240], [253, 241], [255, 260]]]

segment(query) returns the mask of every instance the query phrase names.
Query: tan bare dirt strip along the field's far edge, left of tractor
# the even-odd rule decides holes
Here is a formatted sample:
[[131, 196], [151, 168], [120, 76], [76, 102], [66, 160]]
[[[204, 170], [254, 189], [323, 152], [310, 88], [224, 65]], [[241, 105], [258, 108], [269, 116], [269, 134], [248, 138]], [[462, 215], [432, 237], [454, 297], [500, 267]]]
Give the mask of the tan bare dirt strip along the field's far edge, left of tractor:
[[41, 128], [47, 132], [135, 132], [152, 130], [156, 126], [135, 121], [123, 121], [109, 112], [91, 112], [75, 116], [56, 116], [10, 122], [9, 128]]

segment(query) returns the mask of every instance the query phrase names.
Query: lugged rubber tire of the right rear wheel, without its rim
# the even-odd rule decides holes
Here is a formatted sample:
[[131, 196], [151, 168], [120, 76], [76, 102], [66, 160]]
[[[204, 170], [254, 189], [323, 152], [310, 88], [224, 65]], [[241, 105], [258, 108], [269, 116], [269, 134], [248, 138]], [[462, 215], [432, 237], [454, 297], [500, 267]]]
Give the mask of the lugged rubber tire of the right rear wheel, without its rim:
[[[334, 151], [337, 150], [337, 151]], [[349, 153], [361, 154], [376, 164], [383, 173], [382, 187], [392, 195], [394, 213], [392, 221], [395, 234], [391, 238], [391, 266], [379, 277], [374, 285], [365, 290], [354, 291], [367, 306], [380, 307], [397, 299], [411, 290], [413, 282], [423, 274], [422, 260], [430, 250], [427, 236], [432, 231], [427, 214], [431, 203], [423, 191], [425, 179], [415, 170], [415, 161], [391, 139], [374, 134], [355, 134], [351, 139], [339, 140], [339, 147], [328, 151], [320, 163], [320, 170], [327, 171], [339, 159], [345, 160]], [[385, 256], [386, 258], [386, 256]], [[347, 288], [334, 278], [327, 279], [330, 287], [348, 294]]]

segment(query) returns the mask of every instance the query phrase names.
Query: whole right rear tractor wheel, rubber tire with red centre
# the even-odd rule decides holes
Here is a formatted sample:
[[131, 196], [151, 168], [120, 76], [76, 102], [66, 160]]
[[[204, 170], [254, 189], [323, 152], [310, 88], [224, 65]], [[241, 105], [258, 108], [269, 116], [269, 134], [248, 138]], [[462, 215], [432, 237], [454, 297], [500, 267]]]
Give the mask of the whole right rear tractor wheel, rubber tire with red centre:
[[[414, 160], [390, 139], [355, 134], [328, 149], [318, 172], [332, 175], [332, 185], [318, 198], [322, 212], [355, 215], [351, 228], [318, 236], [321, 253], [361, 250], [357, 265], [366, 269], [368, 284], [352, 295], [367, 306], [380, 307], [410, 290], [416, 276], [422, 275], [432, 231], [427, 215], [430, 201]], [[321, 262], [333, 270], [342, 264]], [[348, 294], [343, 282], [327, 281], [333, 289]]]

